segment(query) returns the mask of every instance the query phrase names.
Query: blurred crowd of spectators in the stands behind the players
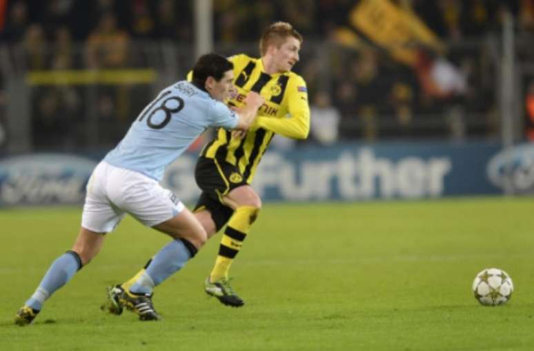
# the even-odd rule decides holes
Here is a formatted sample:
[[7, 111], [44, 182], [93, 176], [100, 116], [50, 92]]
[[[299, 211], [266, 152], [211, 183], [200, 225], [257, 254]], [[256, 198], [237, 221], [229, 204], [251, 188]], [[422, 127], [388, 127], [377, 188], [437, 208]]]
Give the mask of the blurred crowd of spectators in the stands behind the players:
[[[347, 45], [339, 40], [340, 28], [361, 34], [349, 23], [359, 3], [354, 0], [215, 0], [214, 39], [233, 47], [232, 53], [250, 43], [247, 47], [254, 49], [247, 53], [257, 56], [255, 43], [273, 21], [288, 21], [304, 35], [296, 70], [308, 83], [312, 142], [495, 136], [499, 71], [486, 39], [500, 32], [506, 12], [513, 15], [517, 32], [529, 38], [534, 33], [534, 0], [390, 2], [419, 17], [446, 49], [417, 47], [417, 60], [406, 65], [368, 40]], [[146, 68], [165, 61], [154, 57], [150, 43], [190, 50], [194, 6], [192, 0], [0, 1], [0, 38], [16, 49], [14, 61], [22, 72]], [[520, 59], [534, 58], [531, 46], [525, 45]], [[190, 67], [190, 52], [181, 53], [187, 58], [179, 74]], [[5, 71], [2, 68], [0, 76], [0, 145], [9, 137], [4, 88], [10, 72]], [[524, 84], [527, 125], [528, 116], [534, 116], [533, 84]], [[32, 144], [83, 148], [90, 126], [87, 110], [94, 109], [102, 129], [100, 142], [112, 145], [150, 94], [146, 86], [106, 85], [92, 97], [96, 106], [88, 106], [83, 87], [34, 87]], [[532, 121], [534, 129], [534, 117]]]

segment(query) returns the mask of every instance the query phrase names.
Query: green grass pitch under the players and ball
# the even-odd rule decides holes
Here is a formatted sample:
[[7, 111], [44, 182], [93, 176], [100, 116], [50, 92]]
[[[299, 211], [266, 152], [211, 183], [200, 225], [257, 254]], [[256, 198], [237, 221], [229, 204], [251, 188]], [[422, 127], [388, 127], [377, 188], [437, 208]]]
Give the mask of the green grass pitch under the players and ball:
[[[99, 310], [106, 286], [168, 241], [127, 218], [31, 326], [15, 326], [80, 215], [0, 211], [2, 350], [534, 350], [533, 198], [266, 204], [232, 270], [246, 305], [203, 291], [217, 235], [156, 289], [160, 322]], [[515, 284], [504, 306], [471, 292], [491, 266]]]

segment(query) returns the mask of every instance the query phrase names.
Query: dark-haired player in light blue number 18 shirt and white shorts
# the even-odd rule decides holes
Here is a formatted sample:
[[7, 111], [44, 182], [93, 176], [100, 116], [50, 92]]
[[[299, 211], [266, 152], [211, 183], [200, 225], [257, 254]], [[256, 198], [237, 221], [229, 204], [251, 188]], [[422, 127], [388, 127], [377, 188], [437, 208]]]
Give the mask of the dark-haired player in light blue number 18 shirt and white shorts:
[[112, 302], [120, 311], [126, 306], [139, 319], [159, 319], [152, 305], [152, 289], [182, 268], [207, 240], [195, 216], [159, 181], [165, 167], [208, 127], [246, 130], [253, 123], [264, 100], [251, 92], [244, 108], [228, 109], [223, 101], [233, 90], [233, 78], [233, 63], [223, 56], [206, 54], [195, 64], [191, 83], [179, 81], [167, 87], [141, 111], [123, 140], [90, 177], [81, 228], [72, 250], [52, 263], [37, 290], [17, 312], [15, 323], [31, 323], [46, 299], [97, 255], [104, 234], [126, 213], [173, 240], [156, 253], [138, 283], [122, 290], [120, 301]]

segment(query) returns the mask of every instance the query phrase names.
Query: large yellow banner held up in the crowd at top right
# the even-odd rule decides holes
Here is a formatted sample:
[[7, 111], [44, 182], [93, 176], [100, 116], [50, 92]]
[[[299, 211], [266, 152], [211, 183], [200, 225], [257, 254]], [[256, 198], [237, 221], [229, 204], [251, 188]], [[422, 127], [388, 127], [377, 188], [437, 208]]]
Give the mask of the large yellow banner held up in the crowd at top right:
[[360, 1], [350, 13], [350, 23], [408, 65], [415, 63], [417, 45], [442, 50], [437, 36], [415, 14], [389, 0]]

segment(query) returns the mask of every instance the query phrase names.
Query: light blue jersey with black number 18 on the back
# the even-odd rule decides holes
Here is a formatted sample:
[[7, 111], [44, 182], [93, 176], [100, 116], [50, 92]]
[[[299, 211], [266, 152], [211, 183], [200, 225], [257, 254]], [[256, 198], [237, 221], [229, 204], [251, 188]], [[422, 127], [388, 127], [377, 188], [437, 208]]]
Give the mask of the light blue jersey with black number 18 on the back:
[[152, 101], [104, 161], [160, 181], [165, 167], [208, 127], [233, 129], [237, 115], [207, 92], [179, 81]]

